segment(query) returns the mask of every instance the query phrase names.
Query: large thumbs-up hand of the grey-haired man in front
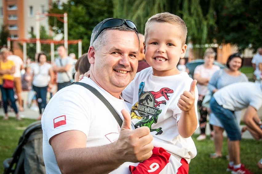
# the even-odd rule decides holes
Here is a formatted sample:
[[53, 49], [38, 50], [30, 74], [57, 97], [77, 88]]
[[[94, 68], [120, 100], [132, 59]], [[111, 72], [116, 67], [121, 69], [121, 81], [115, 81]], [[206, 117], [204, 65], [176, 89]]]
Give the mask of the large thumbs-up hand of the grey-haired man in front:
[[148, 127], [140, 127], [135, 130], [131, 126], [131, 116], [126, 110], [121, 111], [123, 124], [119, 138], [116, 142], [119, 155], [129, 162], [141, 162], [152, 155], [153, 136]]

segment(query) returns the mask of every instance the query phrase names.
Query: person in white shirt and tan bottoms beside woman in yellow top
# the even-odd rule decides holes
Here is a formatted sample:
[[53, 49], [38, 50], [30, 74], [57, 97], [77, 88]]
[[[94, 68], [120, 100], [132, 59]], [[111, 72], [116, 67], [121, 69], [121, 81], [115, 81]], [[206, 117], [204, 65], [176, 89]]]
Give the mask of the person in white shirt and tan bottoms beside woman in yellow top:
[[22, 83], [21, 83], [21, 70], [24, 69], [24, 63], [19, 56], [13, 55], [10, 52], [10, 56], [7, 57], [8, 60], [12, 60], [15, 65], [14, 72], [14, 88], [18, 98], [19, 111], [24, 111], [23, 98], [22, 98]]

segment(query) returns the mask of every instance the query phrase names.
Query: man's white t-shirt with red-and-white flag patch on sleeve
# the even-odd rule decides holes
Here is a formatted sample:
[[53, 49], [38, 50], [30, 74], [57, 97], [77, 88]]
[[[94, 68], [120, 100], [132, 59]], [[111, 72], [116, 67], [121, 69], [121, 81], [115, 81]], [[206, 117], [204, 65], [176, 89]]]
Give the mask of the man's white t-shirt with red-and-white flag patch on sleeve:
[[[121, 110], [129, 111], [123, 99], [117, 99], [84, 77], [80, 82], [95, 87], [121, 116]], [[114, 116], [91, 91], [80, 85], [71, 85], [59, 90], [49, 101], [42, 116], [43, 157], [46, 173], [61, 173], [56, 163], [49, 140], [54, 135], [79, 130], [86, 135], [86, 147], [106, 145], [117, 141], [120, 133]], [[64, 143], [64, 142], [61, 142]], [[124, 163], [112, 173], [130, 173]]]

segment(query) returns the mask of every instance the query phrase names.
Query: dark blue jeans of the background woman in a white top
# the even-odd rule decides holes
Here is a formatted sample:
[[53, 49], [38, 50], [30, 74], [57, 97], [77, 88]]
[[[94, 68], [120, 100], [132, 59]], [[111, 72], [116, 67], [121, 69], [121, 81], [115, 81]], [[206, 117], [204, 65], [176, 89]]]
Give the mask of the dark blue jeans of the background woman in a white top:
[[39, 113], [42, 114], [42, 110], [46, 108], [46, 94], [47, 87], [36, 87], [33, 85], [33, 89], [36, 92], [36, 99], [38, 102]]

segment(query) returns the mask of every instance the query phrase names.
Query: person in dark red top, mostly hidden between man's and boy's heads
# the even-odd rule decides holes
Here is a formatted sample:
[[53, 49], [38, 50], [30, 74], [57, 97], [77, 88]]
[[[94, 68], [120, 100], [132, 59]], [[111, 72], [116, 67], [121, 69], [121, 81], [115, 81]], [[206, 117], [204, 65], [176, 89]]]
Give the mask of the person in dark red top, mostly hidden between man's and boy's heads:
[[141, 70], [150, 67], [150, 65], [145, 61], [145, 53], [144, 53], [145, 36], [141, 33], [138, 33], [138, 37], [139, 37], [140, 45], [139, 45], [137, 72], [140, 72]]

